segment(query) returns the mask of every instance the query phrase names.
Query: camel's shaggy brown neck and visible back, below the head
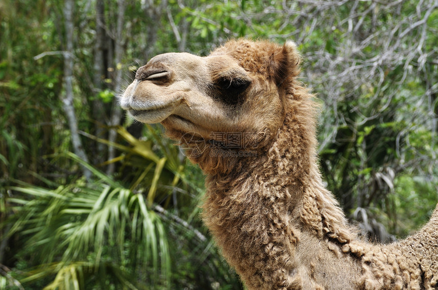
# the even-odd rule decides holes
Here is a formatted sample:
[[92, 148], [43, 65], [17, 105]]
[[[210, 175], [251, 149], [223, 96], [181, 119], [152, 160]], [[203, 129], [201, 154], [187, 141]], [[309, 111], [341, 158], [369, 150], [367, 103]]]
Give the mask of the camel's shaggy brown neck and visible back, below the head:
[[322, 184], [312, 95], [292, 87], [283, 125], [256, 156], [214, 148], [213, 158], [199, 143], [189, 156], [209, 169], [203, 219], [228, 263], [249, 289], [432, 289], [437, 210], [400, 243], [360, 240]]

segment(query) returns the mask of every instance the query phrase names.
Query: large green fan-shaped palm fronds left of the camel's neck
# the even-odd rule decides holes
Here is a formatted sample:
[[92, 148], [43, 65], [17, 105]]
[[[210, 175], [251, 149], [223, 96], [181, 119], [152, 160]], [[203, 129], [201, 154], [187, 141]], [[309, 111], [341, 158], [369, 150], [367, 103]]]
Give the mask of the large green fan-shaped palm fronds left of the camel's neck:
[[[142, 195], [98, 175], [102, 180], [95, 183], [78, 181], [54, 190], [10, 188], [24, 195], [9, 199], [17, 204], [17, 220], [9, 234], [21, 233], [25, 249], [38, 248], [32, 257], [38, 268], [22, 283], [56, 273], [47, 288], [69, 288], [65, 282], [84, 284], [111, 270], [116, 274], [111, 284], [129, 288], [140, 281], [157, 288], [169, 284], [169, 247], [160, 218], [147, 209]], [[144, 269], [144, 275], [134, 269]], [[64, 279], [66, 275], [74, 279]], [[80, 277], [87, 279], [79, 281]]]

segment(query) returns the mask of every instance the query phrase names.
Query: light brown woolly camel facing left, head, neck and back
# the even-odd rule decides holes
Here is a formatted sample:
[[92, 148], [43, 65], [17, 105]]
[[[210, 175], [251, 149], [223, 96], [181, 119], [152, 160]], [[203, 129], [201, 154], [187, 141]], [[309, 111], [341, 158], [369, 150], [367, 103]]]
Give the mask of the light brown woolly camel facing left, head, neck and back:
[[318, 106], [297, 80], [300, 61], [291, 41], [160, 54], [120, 103], [161, 123], [203, 170], [203, 221], [248, 289], [437, 288], [438, 209], [415, 235], [373, 244], [324, 187]]

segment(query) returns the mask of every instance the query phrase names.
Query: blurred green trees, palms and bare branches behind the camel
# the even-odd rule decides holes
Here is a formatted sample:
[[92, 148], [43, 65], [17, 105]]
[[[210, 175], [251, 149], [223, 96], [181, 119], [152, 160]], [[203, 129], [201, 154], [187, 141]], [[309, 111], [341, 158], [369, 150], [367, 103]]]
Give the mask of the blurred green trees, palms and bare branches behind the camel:
[[436, 0], [3, 0], [0, 288], [241, 289], [199, 218], [203, 175], [117, 95], [155, 54], [294, 40], [321, 170], [371, 240], [437, 201]]

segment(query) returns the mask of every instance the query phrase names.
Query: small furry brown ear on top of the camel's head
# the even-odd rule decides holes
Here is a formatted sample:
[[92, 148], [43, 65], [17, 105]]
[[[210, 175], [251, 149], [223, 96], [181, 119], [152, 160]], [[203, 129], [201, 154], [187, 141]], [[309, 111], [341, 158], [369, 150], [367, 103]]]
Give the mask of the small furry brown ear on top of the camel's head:
[[293, 41], [287, 41], [283, 47], [279, 47], [273, 55], [271, 68], [273, 77], [278, 86], [287, 83], [299, 73], [299, 54], [296, 44]]

